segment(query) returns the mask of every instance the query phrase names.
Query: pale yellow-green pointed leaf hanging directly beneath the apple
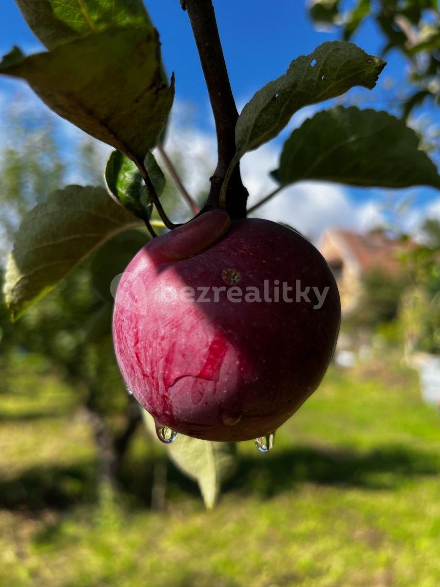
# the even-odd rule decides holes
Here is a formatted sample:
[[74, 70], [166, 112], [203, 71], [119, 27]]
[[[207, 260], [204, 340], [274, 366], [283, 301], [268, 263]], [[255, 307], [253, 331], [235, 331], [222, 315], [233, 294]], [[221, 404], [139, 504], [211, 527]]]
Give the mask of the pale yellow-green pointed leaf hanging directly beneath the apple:
[[[153, 417], [145, 410], [142, 414], [145, 426], [156, 437]], [[205, 506], [212, 510], [222, 483], [236, 470], [236, 444], [199, 440], [180, 434], [174, 443], [166, 447], [171, 460], [182, 473], [197, 481]]]

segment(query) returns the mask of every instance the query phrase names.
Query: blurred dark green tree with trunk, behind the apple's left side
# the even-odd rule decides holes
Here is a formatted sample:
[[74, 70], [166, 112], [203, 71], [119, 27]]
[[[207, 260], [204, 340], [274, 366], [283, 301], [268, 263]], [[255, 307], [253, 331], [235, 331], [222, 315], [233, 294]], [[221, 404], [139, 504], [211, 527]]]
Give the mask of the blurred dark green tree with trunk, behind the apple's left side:
[[[147, 239], [143, 232], [139, 237]], [[12, 329], [4, 312], [2, 319], [1, 326], [8, 329], [2, 346], [9, 352], [18, 348], [42, 354], [76, 387], [96, 441], [100, 480], [116, 486], [140, 410], [124, 393], [110, 336], [111, 303], [94, 289], [90, 262], [69, 274]]]

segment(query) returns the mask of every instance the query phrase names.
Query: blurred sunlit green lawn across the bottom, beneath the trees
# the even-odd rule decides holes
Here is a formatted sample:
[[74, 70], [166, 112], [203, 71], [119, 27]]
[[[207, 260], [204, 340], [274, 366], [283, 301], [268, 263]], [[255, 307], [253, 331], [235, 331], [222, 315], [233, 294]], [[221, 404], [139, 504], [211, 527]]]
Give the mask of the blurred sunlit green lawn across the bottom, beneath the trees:
[[[13, 386], [11, 381], [13, 380]], [[124, 492], [96, 498], [96, 455], [75, 390], [22, 359], [0, 394], [2, 587], [438, 587], [440, 413], [414, 373], [331, 370], [277, 433], [240, 446], [205, 512], [140, 431]]]

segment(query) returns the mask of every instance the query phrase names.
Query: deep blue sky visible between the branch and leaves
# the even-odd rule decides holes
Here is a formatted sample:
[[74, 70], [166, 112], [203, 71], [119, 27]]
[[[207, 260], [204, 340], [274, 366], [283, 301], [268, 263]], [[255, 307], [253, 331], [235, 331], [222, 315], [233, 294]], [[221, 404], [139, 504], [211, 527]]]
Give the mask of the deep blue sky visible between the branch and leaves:
[[[7, 52], [16, 44], [27, 52], [38, 50], [39, 43], [23, 21], [15, 2], [3, 0], [2, 4], [0, 49]], [[231, 84], [239, 107], [262, 85], [284, 73], [293, 58], [312, 52], [324, 41], [339, 38], [338, 31], [319, 32], [313, 28], [302, 0], [277, 0], [270, 4], [262, 0], [216, 0], [214, 4]], [[274, 6], [276, 8], [272, 8]], [[160, 31], [168, 72], [174, 70], [176, 74], [177, 103], [192, 104], [195, 112], [194, 124], [198, 131], [205, 138], [212, 137], [213, 126], [207, 90], [187, 14], [180, 8], [178, 0], [150, 0], [147, 8]], [[371, 23], [365, 24], [353, 41], [373, 54], [378, 54], [383, 44], [380, 33]], [[358, 96], [368, 100], [368, 105], [371, 104], [376, 109], [390, 109], [390, 104], [387, 103], [389, 91], [385, 89], [387, 80], [394, 79], [398, 87], [405, 85], [404, 60], [397, 53], [389, 53], [387, 62], [377, 89], [373, 92], [356, 90]], [[4, 99], [12, 96], [16, 87], [16, 82], [0, 80], [0, 92]], [[293, 126], [302, 122], [306, 114], [312, 113], [312, 110], [300, 112], [287, 130], [292, 130]], [[266, 153], [276, 163], [274, 154], [288, 136], [287, 130], [279, 140], [266, 147], [266, 151], [251, 156], [253, 160], [258, 160], [260, 165]], [[343, 193], [350, 205], [355, 207], [371, 203], [379, 207], [384, 200], [383, 190], [343, 188]], [[390, 197], [400, 200], [408, 193], [414, 201], [413, 217], [427, 206], [437, 210], [440, 194], [429, 188], [403, 190], [391, 194]], [[440, 210], [440, 206], [438, 208]]]

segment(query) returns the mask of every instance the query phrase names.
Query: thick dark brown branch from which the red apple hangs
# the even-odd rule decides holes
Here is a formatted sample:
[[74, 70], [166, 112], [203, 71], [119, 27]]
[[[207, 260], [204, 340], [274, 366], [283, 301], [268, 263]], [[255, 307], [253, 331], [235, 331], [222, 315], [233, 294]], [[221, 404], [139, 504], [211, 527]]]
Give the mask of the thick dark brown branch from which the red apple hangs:
[[[181, 0], [181, 5], [188, 12], [208, 88], [217, 135], [218, 163], [211, 177], [208, 200], [202, 210], [206, 212], [219, 208], [221, 188], [236, 150], [235, 125], [238, 112], [229, 82], [212, 0]], [[248, 190], [242, 183], [239, 166], [237, 166], [228, 184], [225, 202], [226, 211], [232, 220], [246, 216], [247, 199]]]

